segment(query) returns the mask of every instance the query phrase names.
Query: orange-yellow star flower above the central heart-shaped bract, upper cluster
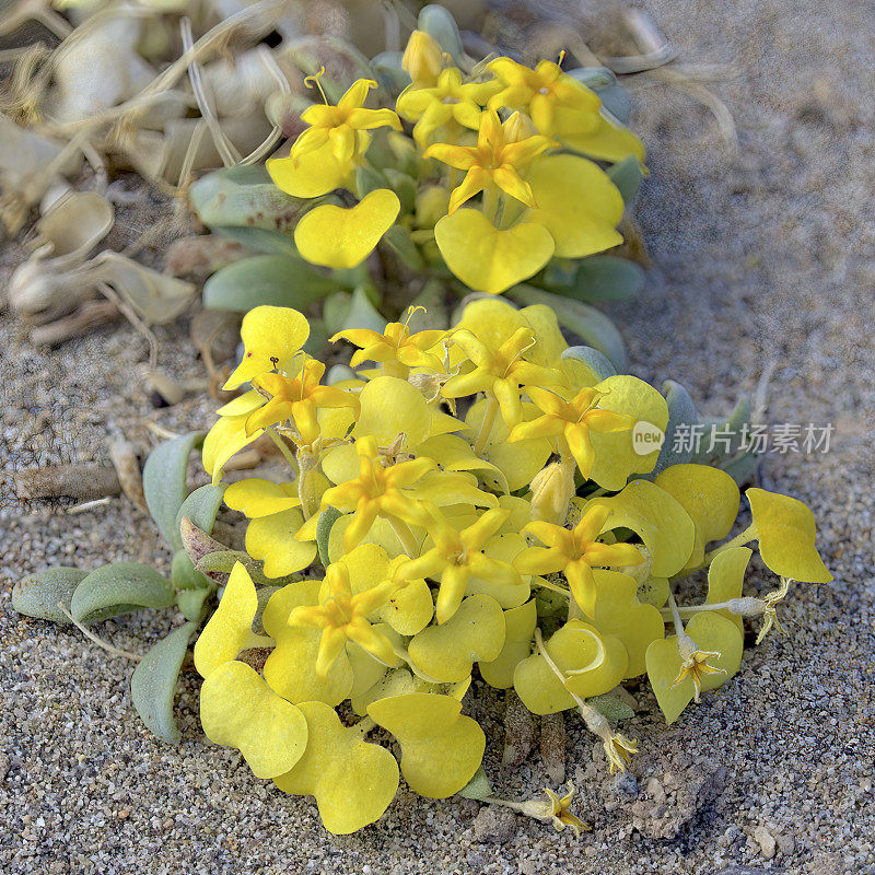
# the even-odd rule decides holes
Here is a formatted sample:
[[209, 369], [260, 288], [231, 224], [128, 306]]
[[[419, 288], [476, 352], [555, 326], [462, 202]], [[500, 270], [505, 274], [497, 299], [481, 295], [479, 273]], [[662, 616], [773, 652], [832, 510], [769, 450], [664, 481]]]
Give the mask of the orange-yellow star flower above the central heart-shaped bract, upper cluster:
[[425, 150], [424, 158], [467, 171], [450, 198], [451, 214], [487, 188], [498, 188], [528, 207], [537, 207], [532, 188], [520, 173], [556, 143], [539, 133], [515, 142], [508, 136], [506, 124], [501, 124], [494, 110], [487, 110], [480, 115], [477, 145], [434, 143]]

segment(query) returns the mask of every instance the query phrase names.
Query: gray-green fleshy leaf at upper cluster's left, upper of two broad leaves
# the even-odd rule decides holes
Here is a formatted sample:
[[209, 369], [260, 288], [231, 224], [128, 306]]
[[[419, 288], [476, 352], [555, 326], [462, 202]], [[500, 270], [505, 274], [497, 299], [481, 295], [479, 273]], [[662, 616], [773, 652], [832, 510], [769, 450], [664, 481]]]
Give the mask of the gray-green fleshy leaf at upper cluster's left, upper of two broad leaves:
[[195, 180], [188, 201], [208, 228], [241, 226], [291, 231], [310, 209], [310, 200], [287, 195], [271, 180], [264, 164], [214, 171]]

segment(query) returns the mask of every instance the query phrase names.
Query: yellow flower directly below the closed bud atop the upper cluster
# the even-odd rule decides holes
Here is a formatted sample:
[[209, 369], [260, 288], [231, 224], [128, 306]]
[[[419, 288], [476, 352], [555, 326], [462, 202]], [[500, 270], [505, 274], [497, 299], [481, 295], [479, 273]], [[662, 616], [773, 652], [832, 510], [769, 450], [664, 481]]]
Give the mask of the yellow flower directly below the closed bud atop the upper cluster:
[[431, 135], [450, 121], [477, 130], [482, 107], [499, 88], [497, 80], [463, 82], [462, 70], [451, 67], [428, 86], [415, 82], [402, 91], [396, 109], [401, 118], [416, 121], [413, 139], [424, 148]]

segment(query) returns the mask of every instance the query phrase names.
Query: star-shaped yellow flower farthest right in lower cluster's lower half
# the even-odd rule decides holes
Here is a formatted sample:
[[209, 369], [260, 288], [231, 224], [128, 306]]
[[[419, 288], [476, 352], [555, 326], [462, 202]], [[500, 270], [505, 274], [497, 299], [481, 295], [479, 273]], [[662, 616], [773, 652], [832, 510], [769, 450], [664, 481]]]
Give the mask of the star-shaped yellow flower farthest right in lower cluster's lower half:
[[547, 547], [523, 550], [514, 567], [523, 574], [552, 574], [561, 571], [574, 600], [593, 616], [596, 585], [593, 568], [640, 565], [641, 551], [631, 544], [602, 544], [598, 537], [610, 515], [604, 506], [590, 508], [572, 529], [542, 521], [529, 523], [523, 530], [535, 535]]

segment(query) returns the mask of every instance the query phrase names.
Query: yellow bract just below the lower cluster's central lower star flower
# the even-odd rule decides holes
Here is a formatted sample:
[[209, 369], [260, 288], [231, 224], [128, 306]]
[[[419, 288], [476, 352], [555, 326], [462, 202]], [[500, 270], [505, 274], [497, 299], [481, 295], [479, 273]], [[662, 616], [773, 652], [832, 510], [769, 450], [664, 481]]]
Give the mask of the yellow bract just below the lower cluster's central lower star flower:
[[471, 665], [497, 660], [504, 646], [504, 611], [488, 595], [468, 596], [442, 626], [413, 635], [408, 653], [417, 668], [435, 680], [464, 680]]

